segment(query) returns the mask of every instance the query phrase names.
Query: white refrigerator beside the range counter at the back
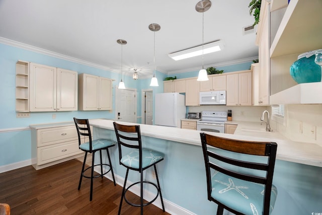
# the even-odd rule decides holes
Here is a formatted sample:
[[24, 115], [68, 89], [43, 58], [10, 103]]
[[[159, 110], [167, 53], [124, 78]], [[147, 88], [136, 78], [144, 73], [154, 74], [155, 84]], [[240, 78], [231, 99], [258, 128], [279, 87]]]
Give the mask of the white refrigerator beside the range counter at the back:
[[155, 125], [181, 128], [181, 119], [186, 117], [185, 96], [179, 93], [155, 94]]

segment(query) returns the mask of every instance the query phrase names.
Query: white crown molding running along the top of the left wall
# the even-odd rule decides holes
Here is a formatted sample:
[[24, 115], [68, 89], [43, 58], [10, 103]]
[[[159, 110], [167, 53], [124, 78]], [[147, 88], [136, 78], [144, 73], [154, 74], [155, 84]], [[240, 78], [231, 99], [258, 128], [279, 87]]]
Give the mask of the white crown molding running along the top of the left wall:
[[21, 42], [18, 42], [18, 41], [10, 40], [10, 39], [4, 38], [4, 37], [0, 37], [0, 43], [10, 45], [10, 46], [14, 46], [14, 47], [17, 47], [17, 48], [22, 48], [22, 49], [25, 49], [25, 50], [28, 50], [28, 51], [34, 51], [34, 52], [37, 52], [37, 53], [40, 53], [40, 54], [45, 54], [45, 55], [48, 55], [48, 56], [51, 56], [51, 57], [56, 57], [56, 58], [59, 58], [59, 59], [68, 60], [68, 61], [79, 63], [79, 64], [82, 64], [82, 65], [87, 65], [87, 66], [91, 66], [91, 67], [95, 67], [95, 68], [99, 68], [99, 69], [103, 69], [103, 70], [113, 71], [114, 73], [120, 73], [119, 71], [117, 71], [117, 70], [115, 70], [113, 68], [110, 68], [108, 66], [100, 65], [100, 64], [97, 64], [97, 63], [92, 63], [92, 62], [82, 60], [82, 59], [78, 59], [78, 58], [75, 58], [75, 57], [70, 57], [70, 56], [67, 56], [67, 55], [64, 55], [64, 54], [49, 51], [49, 50], [43, 49], [43, 48], [38, 48], [36, 46], [32, 46], [32, 45], [28, 45], [28, 44], [21, 43]]

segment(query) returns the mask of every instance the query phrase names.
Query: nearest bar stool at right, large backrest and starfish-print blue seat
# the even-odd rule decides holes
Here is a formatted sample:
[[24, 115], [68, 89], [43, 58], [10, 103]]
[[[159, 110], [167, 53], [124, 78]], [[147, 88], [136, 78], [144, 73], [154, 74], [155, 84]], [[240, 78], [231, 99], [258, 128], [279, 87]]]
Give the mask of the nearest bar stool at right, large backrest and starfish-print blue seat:
[[217, 215], [223, 209], [235, 214], [270, 214], [277, 196], [272, 185], [277, 144], [203, 132], [200, 137], [208, 200], [218, 204]]

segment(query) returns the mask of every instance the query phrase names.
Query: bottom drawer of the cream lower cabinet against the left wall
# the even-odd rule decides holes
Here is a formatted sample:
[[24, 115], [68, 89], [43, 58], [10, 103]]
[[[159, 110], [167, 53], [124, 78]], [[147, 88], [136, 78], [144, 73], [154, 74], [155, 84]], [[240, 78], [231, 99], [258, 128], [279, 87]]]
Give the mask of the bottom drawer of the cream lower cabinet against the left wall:
[[78, 147], [78, 140], [64, 142], [63, 144], [39, 147], [37, 150], [37, 165], [46, 164], [83, 153], [83, 151]]

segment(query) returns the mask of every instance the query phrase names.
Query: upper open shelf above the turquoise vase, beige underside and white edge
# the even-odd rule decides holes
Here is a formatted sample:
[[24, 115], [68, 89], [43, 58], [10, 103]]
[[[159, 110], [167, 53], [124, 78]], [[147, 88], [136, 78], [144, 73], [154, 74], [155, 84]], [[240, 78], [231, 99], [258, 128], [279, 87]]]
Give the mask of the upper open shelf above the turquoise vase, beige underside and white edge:
[[272, 43], [271, 57], [322, 48], [321, 11], [321, 0], [291, 0]]

